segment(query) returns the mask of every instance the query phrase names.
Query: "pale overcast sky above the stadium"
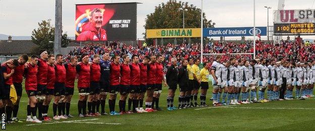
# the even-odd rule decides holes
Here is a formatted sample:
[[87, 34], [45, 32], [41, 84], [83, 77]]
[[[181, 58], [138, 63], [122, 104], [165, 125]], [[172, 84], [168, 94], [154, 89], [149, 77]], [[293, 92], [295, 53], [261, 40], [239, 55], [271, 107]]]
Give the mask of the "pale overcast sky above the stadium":
[[[315, 0], [285, 1], [285, 10], [288, 9], [313, 9]], [[143, 38], [145, 31], [143, 25], [147, 14], [153, 13], [154, 6], [166, 3], [168, 0], [64, 0], [62, 5], [63, 31], [68, 36], [73, 37], [75, 26], [75, 4], [98, 4], [98, 3], [126, 3], [138, 2], [137, 10], [137, 38]], [[183, 0], [188, 4], [201, 8], [200, 0]], [[256, 26], [267, 26], [267, 9], [269, 12], [269, 24], [273, 23], [272, 10], [278, 7], [278, 1], [256, 0]], [[203, 0], [203, 12], [206, 18], [216, 23], [215, 27], [250, 27], [253, 26], [253, 0]], [[0, 34], [13, 36], [30, 36], [33, 29], [37, 28], [37, 23], [42, 20], [51, 19], [55, 22], [55, 1], [53, 0], [0, 0]], [[313, 38], [314, 36], [307, 36]]]

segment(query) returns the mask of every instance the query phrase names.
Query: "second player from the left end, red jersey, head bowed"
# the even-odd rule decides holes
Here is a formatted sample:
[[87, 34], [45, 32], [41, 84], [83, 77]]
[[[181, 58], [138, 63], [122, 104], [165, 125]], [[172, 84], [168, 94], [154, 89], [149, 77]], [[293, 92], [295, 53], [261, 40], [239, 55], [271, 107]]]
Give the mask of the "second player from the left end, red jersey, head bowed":
[[20, 100], [21, 100], [22, 91], [23, 91], [22, 82], [23, 82], [23, 75], [24, 75], [24, 68], [25, 68], [24, 64], [28, 61], [28, 55], [22, 54], [22, 56], [20, 56], [18, 61], [19, 61], [19, 65], [14, 69], [14, 74], [13, 74], [13, 85], [15, 87], [15, 90], [18, 96], [18, 99], [13, 106], [12, 120], [14, 122], [22, 122], [21, 120], [17, 118], [17, 115], [18, 115]]

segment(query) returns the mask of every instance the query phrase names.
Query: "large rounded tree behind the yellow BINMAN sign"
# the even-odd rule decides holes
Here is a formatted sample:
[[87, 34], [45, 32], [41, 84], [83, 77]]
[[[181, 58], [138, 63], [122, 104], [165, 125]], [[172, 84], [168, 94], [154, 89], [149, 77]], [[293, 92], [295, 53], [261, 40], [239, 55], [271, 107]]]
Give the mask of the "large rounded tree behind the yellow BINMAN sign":
[[[166, 4], [162, 3], [159, 6], [155, 6], [154, 13], [146, 15], [145, 29], [167, 29], [167, 28], [183, 28], [183, 12], [180, 8], [187, 9], [185, 11], [185, 28], [200, 28], [200, 14], [201, 9], [196, 8], [194, 5], [188, 5], [188, 2], [177, 2], [176, 0], [170, 0]], [[212, 20], [207, 20], [205, 13], [203, 16], [203, 27], [211, 28], [216, 23]], [[144, 38], [146, 32], [143, 33]], [[199, 40], [200, 38], [193, 38]], [[146, 39], [148, 43], [152, 43], [152, 39]]]

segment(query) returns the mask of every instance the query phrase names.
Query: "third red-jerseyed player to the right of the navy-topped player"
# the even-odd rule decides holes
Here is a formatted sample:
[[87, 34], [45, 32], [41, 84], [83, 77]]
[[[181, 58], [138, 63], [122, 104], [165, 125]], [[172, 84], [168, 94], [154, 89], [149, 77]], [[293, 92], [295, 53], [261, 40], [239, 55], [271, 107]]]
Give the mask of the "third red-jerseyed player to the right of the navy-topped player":
[[[129, 65], [130, 67], [130, 94], [128, 99], [128, 110], [129, 113], [136, 112], [137, 97], [140, 91], [140, 67], [139, 67], [139, 57], [138, 55], [131, 56], [132, 62]], [[131, 110], [131, 103], [133, 108]]]

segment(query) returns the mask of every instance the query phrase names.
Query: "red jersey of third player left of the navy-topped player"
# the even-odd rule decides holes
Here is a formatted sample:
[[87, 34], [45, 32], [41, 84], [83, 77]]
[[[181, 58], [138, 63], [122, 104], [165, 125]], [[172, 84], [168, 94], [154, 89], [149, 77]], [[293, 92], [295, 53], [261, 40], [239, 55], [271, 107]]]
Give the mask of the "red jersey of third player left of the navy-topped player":
[[66, 84], [65, 87], [74, 88], [74, 80], [77, 75], [76, 67], [73, 66], [71, 63], [66, 63]]

